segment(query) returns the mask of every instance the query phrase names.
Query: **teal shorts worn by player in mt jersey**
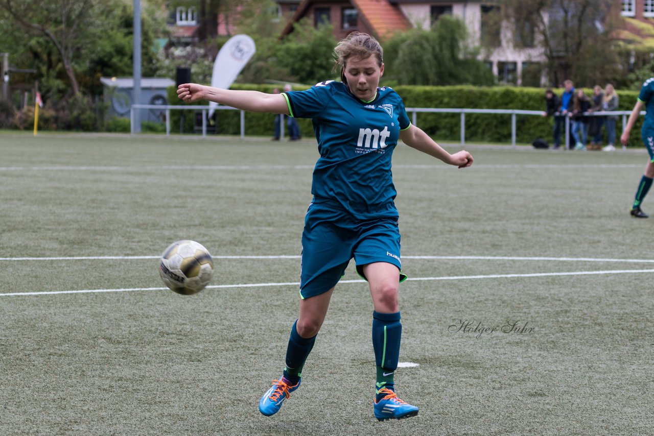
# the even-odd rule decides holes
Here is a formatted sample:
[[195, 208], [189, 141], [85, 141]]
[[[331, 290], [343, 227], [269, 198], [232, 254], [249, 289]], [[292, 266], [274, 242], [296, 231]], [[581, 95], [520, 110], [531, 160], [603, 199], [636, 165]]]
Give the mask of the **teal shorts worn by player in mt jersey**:
[[[352, 258], [361, 277], [362, 267], [373, 262], [401, 271], [398, 218], [357, 220], [335, 202], [311, 203], [302, 233], [302, 299], [334, 288]], [[400, 281], [405, 278], [400, 273]]]

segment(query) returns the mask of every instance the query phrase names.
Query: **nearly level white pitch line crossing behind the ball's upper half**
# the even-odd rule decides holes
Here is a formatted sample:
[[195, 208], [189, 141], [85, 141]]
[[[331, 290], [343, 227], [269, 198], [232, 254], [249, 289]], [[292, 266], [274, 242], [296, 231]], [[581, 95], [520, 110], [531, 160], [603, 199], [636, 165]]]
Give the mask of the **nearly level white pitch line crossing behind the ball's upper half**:
[[[0, 258], [0, 261], [39, 261], [39, 260], [142, 260], [158, 259], [160, 256], [57, 256]], [[214, 259], [300, 259], [298, 255], [279, 256], [213, 256]], [[551, 258], [533, 256], [402, 256], [402, 259], [415, 260], [522, 260], [522, 261], [564, 261], [564, 262], [625, 262], [654, 263], [654, 259], [615, 259], [615, 258]]]

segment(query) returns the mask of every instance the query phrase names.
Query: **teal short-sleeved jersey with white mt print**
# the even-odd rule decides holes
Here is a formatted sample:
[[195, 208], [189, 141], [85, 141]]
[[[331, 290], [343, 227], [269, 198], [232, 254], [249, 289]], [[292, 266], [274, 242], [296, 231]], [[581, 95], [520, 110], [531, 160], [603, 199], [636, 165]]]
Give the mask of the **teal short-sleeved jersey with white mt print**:
[[391, 158], [400, 130], [411, 125], [400, 96], [377, 88], [375, 99], [364, 102], [335, 81], [284, 95], [291, 116], [313, 120], [320, 152], [315, 202], [337, 201], [362, 220], [397, 216]]

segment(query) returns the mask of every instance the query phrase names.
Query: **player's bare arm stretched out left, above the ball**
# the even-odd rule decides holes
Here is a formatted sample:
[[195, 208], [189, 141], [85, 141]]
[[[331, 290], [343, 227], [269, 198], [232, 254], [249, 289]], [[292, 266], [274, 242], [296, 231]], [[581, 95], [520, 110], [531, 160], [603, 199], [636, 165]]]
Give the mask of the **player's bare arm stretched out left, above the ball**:
[[281, 94], [267, 94], [258, 91], [222, 90], [197, 83], [185, 83], [177, 87], [177, 97], [186, 103], [209, 100], [249, 112], [290, 114], [286, 98]]

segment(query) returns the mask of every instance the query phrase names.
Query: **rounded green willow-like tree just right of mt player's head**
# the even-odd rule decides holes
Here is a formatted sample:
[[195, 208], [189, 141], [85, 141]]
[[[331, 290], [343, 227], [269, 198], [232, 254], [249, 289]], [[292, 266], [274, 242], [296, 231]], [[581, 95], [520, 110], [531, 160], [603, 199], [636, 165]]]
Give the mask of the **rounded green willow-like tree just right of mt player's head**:
[[385, 43], [385, 78], [411, 85], [494, 84], [492, 72], [466, 39], [466, 25], [447, 15], [429, 30], [398, 33]]

